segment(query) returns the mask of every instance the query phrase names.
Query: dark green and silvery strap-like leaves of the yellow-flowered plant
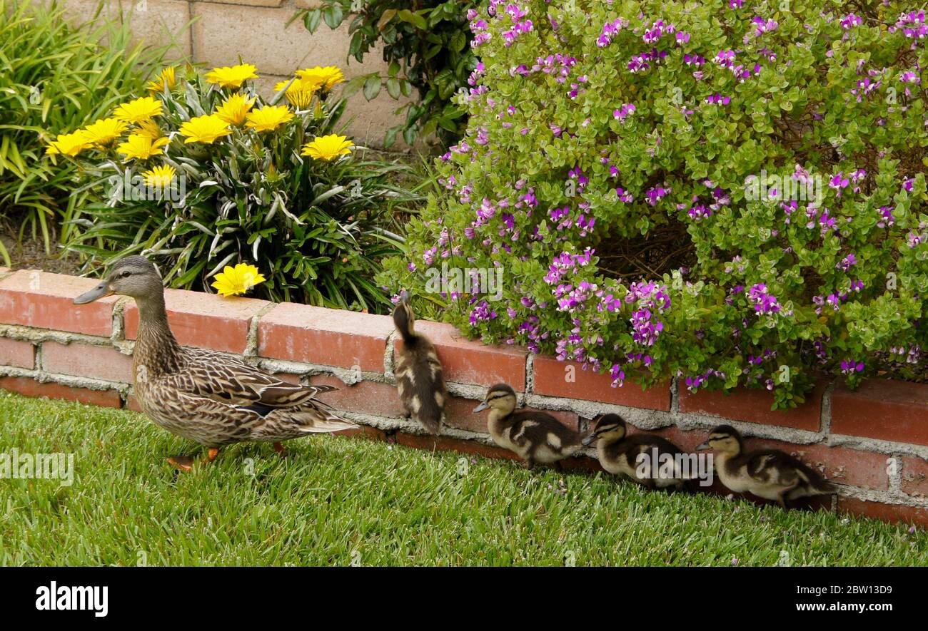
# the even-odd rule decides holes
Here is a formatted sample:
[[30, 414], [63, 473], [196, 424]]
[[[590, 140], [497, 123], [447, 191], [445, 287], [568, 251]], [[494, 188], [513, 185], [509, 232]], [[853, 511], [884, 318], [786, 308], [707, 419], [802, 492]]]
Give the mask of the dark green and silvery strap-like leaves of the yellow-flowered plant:
[[[254, 99], [253, 113], [276, 105], [286, 87], [265, 102], [251, 85], [220, 88], [188, 67], [173, 89], [154, 94], [163, 108], [154, 121], [171, 139], [163, 156], [124, 163], [103, 147], [80, 158], [90, 178], [84, 188], [106, 201], [82, 209], [67, 249], [84, 257], [86, 271], [128, 254], [148, 255], [170, 286], [204, 291], [212, 291], [213, 275], [226, 265], [250, 262], [266, 278], [254, 288], [256, 297], [386, 309], [390, 303], [371, 279], [380, 258], [402, 244], [391, 208], [413, 197], [394, 183], [409, 170], [367, 160], [358, 147], [330, 161], [301, 155], [315, 138], [338, 132], [344, 101], [315, 92], [276, 129], [257, 132], [242, 120], [213, 143], [185, 138], [187, 120], [214, 116], [226, 98]], [[173, 191], [124, 194], [123, 183], [135, 184], [143, 170], [159, 165], [175, 170]]]

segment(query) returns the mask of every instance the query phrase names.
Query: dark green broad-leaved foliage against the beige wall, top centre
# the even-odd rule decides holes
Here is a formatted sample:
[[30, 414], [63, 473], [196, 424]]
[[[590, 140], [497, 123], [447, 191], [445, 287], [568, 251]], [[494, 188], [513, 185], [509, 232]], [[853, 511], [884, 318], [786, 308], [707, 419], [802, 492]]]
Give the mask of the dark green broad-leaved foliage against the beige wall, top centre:
[[303, 9], [297, 14], [310, 32], [320, 22], [336, 29], [351, 14], [352, 34], [348, 56], [363, 61], [377, 44], [383, 45], [383, 59], [390, 66], [387, 76], [378, 72], [355, 77], [345, 95], [362, 90], [371, 100], [381, 89], [394, 99], [418, 99], [397, 110], [406, 120], [387, 131], [384, 145], [390, 146], [402, 134], [411, 145], [417, 136], [436, 133], [443, 146], [456, 142], [467, 126], [464, 110], [452, 96], [466, 87], [476, 59], [470, 48], [467, 11], [476, 0], [425, 0], [410, 7], [403, 0], [323, 0], [323, 6]]

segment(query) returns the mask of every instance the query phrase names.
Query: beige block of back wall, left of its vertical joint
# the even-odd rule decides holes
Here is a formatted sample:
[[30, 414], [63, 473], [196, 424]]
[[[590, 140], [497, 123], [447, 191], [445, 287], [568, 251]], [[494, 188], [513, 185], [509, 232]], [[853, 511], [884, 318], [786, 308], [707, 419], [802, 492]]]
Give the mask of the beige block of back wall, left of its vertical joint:
[[169, 45], [168, 59], [190, 55], [191, 13], [187, 0], [121, 0], [121, 5], [122, 21], [132, 31], [132, 44]]

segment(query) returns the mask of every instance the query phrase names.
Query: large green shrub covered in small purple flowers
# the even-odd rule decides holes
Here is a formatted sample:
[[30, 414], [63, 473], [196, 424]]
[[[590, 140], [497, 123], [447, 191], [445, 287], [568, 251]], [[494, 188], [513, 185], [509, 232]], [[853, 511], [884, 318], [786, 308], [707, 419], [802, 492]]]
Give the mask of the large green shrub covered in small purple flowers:
[[895, 2], [491, 0], [468, 133], [411, 262], [503, 268], [442, 313], [613, 385], [910, 377], [928, 334], [924, 12]]

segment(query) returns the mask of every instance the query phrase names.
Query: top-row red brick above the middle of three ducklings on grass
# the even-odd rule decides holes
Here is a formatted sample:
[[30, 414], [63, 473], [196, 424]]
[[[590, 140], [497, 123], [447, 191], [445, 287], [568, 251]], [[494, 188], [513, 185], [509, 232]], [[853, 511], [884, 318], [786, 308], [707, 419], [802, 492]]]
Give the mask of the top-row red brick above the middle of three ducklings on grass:
[[[629, 383], [612, 387], [608, 373], [583, 370], [580, 364], [537, 356], [532, 361], [535, 394], [549, 397], [581, 398], [647, 410], [670, 411], [670, 386], [655, 385], [647, 391]], [[567, 378], [573, 381], [567, 381]]]

